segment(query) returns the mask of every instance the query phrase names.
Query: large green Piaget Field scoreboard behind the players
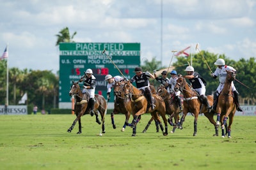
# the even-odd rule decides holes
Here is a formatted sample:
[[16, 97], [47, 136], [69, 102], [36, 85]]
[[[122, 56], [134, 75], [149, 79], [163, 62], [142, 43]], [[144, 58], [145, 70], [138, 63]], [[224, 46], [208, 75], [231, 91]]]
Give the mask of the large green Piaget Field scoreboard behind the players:
[[[106, 52], [102, 54], [104, 49]], [[106, 74], [122, 76], [113, 62], [126, 78], [131, 78], [134, 68], [140, 66], [140, 43], [60, 43], [59, 108], [71, 108], [68, 92], [72, 81], [78, 81], [89, 68], [96, 78], [95, 94], [106, 98]], [[111, 94], [110, 102], [113, 99]]]

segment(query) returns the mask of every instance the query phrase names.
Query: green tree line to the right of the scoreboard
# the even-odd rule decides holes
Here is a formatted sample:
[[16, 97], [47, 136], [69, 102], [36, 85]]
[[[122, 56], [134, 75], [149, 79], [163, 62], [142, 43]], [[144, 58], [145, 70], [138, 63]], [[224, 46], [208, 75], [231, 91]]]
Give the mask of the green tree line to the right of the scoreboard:
[[[192, 57], [192, 63], [191, 62]], [[204, 57], [204, 58], [203, 58]], [[255, 57], [250, 57], [250, 59], [239, 59], [238, 61], [228, 59], [225, 55], [218, 55], [215, 53], [206, 52], [204, 50], [201, 53], [191, 53], [188, 57], [177, 57], [177, 61], [173, 62], [171, 65], [175, 66], [175, 70], [178, 74], [186, 74], [186, 67], [188, 64], [192, 64], [195, 68], [195, 71], [198, 72], [206, 81], [206, 94], [212, 94], [218, 87], [219, 81], [217, 79], [213, 79], [211, 77], [211, 71], [214, 73], [217, 66], [214, 65], [214, 62], [218, 59], [224, 59], [226, 65], [232, 66], [236, 69], [236, 80], [234, 84], [236, 89], [239, 92], [241, 104], [248, 104], [248, 105], [255, 105], [256, 104], [256, 80], [254, 75], [256, 74], [256, 63]], [[164, 63], [168, 64], [170, 60], [164, 61]], [[208, 64], [208, 66], [207, 66]], [[152, 59], [152, 61], [145, 60], [141, 66], [143, 71], [150, 71], [152, 72], [154, 69], [162, 69], [161, 61], [157, 61], [156, 57]], [[210, 70], [210, 69], [211, 70]], [[168, 76], [170, 78], [170, 74]], [[188, 81], [189, 82], [189, 81]], [[159, 83], [154, 80], [152, 81], [156, 86]]]

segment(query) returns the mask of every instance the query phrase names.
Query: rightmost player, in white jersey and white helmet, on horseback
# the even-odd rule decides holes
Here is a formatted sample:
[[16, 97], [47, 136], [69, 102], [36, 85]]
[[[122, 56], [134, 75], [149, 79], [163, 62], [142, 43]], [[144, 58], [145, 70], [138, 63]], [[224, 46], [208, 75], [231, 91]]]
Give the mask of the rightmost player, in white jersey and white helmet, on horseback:
[[[236, 69], [234, 69], [231, 66], [225, 65], [225, 60], [223, 60], [223, 59], [216, 60], [216, 62], [214, 62], [214, 64], [218, 67], [216, 68], [214, 73], [212, 73], [212, 77], [213, 78], [219, 77], [219, 81], [220, 81], [220, 85], [218, 86], [217, 90], [214, 92], [214, 96], [213, 96], [213, 109], [216, 110], [216, 106], [218, 103], [218, 96], [220, 95], [221, 91], [223, 90], [223, 87], [224, 87], [224, 84], [226, 81], [226, 77], [227, 77], [227, 71], [236, 71]], [[237, 92], [233, 81], [231, 83], [231, 87], [232, 87], [232, 92], [234, 94], [235, 103], [237, 105], [236, 109], [237, 109], [237, 111], [243, 111], [241, 109], [241, 107], [239, 106], [239, 102], [238, 102], [239, 93]]]

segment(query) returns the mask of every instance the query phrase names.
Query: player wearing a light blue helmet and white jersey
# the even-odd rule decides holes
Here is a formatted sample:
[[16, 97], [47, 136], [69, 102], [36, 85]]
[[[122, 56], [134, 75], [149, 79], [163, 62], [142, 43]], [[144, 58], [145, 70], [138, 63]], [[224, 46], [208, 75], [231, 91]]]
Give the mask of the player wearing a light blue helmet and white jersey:
[[177, 80], [178, 80], [177, 71], [173, 70], [170, 74], [171, 74], [171, 77], [170, 77], [170, 80], [168, 81], [169, 89], [170, 89], [170, 92], [174, 92], [175, 99], [177, 100], [180, 111], [182, 111], [182, 105], [181, 105], [181, 99], [180, 99], [180, 90], [177, 91], [177, 92], [175, 90], [173, 90], [176, 83], [177, 83]]

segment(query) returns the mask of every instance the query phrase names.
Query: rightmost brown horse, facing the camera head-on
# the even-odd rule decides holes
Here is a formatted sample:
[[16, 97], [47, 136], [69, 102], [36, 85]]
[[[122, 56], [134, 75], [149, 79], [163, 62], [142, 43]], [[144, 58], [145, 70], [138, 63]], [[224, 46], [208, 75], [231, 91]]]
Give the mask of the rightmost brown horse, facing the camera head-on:
[[[236, 79], [236, 73], [234, 71], [227, 71], [226, 81], [223, 90], [220, 93], [218, 104], [216, 108], [217, 113], [217, 124], [218, 127], [221, 122], [221, 137], [225, 137], [224, 128], [227, 127], [227, 119], [229, 123], [227, 127], [228, 138], [231, 138], [231, 125], [233, 122], [234, 115], [236, 113], [236, 104], [234, 103], [234, 97], [232, 94], [231, 83]], [[221, 120], [221, 121], [220, 121]]]

